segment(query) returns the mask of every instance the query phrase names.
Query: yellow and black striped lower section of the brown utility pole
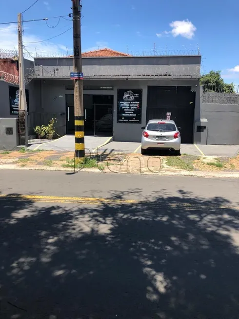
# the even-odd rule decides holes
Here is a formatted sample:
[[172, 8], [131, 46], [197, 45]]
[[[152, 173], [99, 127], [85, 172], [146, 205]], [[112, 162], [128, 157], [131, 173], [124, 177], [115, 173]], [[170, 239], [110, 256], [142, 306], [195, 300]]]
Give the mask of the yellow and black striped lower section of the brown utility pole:
[[75, 116], [75, 157], [76, 160], [85, 156], [84, 117]]

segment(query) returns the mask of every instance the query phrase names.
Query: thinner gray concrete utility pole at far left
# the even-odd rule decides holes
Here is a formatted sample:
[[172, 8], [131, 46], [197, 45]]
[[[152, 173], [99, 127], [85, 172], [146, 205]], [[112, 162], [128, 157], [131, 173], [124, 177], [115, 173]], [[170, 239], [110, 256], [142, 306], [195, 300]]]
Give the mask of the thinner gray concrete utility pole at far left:
[[[25, 91], [25, 78], [24, 78], [24, 61], [23, 61], [23, 47], [22, 47], [22, 21], [21, 13], [18, 14], [18, 52], [19, 52], [19, 121], [21, 122], [20, 128], [20, 144], [28, 146], [28, 124], [27, 124], [27, 104], [26, 104], [26, 91]], [[24, 143], [21, 139], [24, 138]]]

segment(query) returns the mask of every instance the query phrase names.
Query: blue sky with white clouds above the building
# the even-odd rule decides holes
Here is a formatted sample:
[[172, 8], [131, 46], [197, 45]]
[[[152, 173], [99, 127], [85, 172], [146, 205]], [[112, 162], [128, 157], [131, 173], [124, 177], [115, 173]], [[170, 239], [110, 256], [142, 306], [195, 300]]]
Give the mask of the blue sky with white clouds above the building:
[[[3, 1], [3, 0], [2, 0]], [[16, 21], [34, 0], [15, 1], [9, 10], [1, 3], [0, 22]], [[67, 15], [71, 0], [39, 0], [23, 14], [24, 20]], [[194, 50], [199, 46], [202, 73], [221, 70], [226, 82], [239, 84], [239, 2], [227, 0], [82, 0], [83, 51], [109, 47], [130, 53], [156, 50]], [[24, 24], [28, 51], [59, 52], [72, 48], [72, 30], [42, 43], [71, 27], [71, 21], [50, 19]], [[55, 26], [55, 27], [54, 27]], [[53, 27], [53, 28], [51, 28]], [[154, 44], [156, 43], [156, 44]], [[0, 25], [0, 47], [17, 45], [16, 25]]]

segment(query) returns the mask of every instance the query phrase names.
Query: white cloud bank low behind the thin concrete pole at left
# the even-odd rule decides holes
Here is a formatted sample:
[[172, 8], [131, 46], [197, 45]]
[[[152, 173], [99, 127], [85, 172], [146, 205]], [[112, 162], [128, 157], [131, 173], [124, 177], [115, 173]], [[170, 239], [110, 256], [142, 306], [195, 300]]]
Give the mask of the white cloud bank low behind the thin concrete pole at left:
[[[36, 55], [36, 50], [38, 54], [40, 53], [58, 53], [58, 52], [66, 52], [66, 46], [59, 43], [51, 43], [49, 41], [45, 41], [42, 43], [28, 43], [27, 42], [37, 42], [44, 40], [34, 34], [31, 34], [30, 29], [25, 28], [25, 32], [23, 35], [23, 44], [25, 44], [27, 51]], [[27, 31], [26, 31], [27, 30]], [[0, 48], [5, 50], [17, 50], [18, 49], [18, 34], [17, 27], [14, 24], [10, 24], [5, 28], [1, 28], [0, 31]]]

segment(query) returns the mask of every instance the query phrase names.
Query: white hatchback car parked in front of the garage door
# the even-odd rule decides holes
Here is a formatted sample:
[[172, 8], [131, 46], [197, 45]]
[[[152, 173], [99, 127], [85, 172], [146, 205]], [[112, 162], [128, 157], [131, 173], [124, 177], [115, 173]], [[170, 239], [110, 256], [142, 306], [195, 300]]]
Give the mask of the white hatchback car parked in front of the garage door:
[[171, 120], [150, 120], [143, 129], [141, 138], [141, 153], [149, 149], [174, 150], [180, 155], [181, 137], [179, 129]]

